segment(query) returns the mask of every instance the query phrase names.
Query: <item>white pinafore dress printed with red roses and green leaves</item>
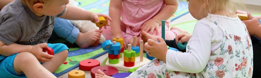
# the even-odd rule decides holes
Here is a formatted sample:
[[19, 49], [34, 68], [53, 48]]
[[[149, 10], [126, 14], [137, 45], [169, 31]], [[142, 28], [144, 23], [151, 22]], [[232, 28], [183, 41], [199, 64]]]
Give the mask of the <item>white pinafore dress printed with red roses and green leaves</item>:
[[[215, 20], [210, 21], [218, 26]], [[168, 71], [166, 63], [155, 58], [127, 78], [251, 78], [253, 48], [246, 26], [244, 36], [233, 35], [221, 26], [219, 28], [223, 31], [222, 44], [217, 51], [211, 52], [207, 66], [200, 73]], [[187, 50], [190, 48], [187, 46]]]

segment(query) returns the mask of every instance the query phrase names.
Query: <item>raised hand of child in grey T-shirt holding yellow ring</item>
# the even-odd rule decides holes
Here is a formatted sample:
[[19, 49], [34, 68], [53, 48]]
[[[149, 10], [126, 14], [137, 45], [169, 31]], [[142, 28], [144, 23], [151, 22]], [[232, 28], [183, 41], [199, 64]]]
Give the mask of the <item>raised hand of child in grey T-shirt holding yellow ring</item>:
[[[105, 19], [106, 19], [106, 21], [107, 21], [107, 24], [104, 26], [105, 29], [107, 28], [107, 26], [110, 26], [110, 21], [112, 21], [112, 20], [111, 20], [111, 17], [109, 17], [109, 16], [107, 16], [107, 15], [105, 15], [105, 14], [92, 13], [92, 14], [90, 15], [91, 21], [92, 21], [93, 23], [98, 23], [98, 22], [99, 22], [99, 19], [98, 19], [99, 16], [105, 17]], [[102, 27], [100, 27], [100, 29], [102, 29]]]

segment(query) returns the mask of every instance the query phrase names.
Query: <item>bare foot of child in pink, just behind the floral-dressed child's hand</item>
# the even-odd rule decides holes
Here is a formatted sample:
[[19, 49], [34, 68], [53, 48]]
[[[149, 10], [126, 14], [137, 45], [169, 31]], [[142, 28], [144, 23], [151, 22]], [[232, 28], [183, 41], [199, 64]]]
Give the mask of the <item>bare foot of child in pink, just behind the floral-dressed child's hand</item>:
[[158, 42], [157, 36], [146, 33], [145, 31], [141, 32], [141, 39], [143, 40], [143, 43], [146, 43], [148, 41], [148, 39], [152, 39], [152, 40]]

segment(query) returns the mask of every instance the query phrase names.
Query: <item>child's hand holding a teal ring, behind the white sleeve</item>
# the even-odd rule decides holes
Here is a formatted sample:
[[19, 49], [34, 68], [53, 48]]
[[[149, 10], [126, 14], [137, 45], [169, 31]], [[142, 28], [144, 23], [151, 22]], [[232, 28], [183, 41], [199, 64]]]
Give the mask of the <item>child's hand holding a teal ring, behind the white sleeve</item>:
[[180, 41], [180, 43], [189, 42], [190, 37], [191, 37], [191, 35], [187, 34], [187, 33], [180, 34], [180, 35], [176, 36], [176, 44], [178, 44], [178, 41]]

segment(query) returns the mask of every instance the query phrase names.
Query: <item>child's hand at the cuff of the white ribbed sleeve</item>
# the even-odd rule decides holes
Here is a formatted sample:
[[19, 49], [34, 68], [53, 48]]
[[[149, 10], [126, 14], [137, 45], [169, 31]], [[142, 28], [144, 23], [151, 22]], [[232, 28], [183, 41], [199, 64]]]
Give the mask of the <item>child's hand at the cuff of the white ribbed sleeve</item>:
[[166, 54], [168, 51], [167, 44], [164, 39], [159, 37], [157, 39], [160, 43], [148, 39], [148, 42], [144, 44], [145, 51], [148, 52], [149, 56], [153, 56], [166, 62]]

